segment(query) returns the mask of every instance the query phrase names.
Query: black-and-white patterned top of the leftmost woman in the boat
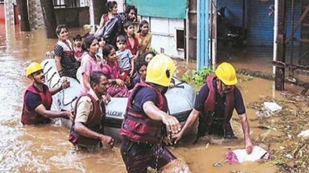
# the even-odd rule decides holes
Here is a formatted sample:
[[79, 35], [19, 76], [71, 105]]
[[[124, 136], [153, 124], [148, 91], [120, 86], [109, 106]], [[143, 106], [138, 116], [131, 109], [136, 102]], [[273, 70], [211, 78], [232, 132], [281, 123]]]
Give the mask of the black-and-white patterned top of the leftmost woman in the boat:
[[72, 43], [69, 40], [66, 42], [58, 41], [54, 48], [56, 56], [60, 56], [63, 76], [76, 78], [76, 72], [80, 66], [80, 62], [74, 57], [74, 50]]

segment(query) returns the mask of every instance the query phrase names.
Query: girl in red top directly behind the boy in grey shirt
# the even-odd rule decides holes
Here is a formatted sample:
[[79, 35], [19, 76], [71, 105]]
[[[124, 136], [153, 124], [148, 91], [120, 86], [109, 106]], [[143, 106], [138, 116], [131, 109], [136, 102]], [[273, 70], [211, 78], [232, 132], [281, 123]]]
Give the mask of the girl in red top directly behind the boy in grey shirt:
[[135, 55], [135, 57], [138, 57], [138, 39], [135, 36], [134, 33], [134, 25], [131, 21], [126, 21], [123, 24], [124, 32], [126, 34], [126, 48], [129, 49], [132, 53], [132, 55]]

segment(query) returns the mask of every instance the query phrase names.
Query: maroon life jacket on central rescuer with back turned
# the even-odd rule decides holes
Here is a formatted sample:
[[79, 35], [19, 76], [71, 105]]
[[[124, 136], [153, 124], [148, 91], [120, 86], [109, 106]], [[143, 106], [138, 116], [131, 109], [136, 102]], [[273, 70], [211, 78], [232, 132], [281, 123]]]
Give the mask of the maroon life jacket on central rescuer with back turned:
[[150, 84], [138, 83], [129, 96], [127, 112], [122, 122], [120, 134], [135, 142], [159, 143], [163, 137], [163, 123], [150, 119], [145, 113], [136, 112], [132, 108], [132, 102], [136, 93], [143, 87], [155, 91], [159, 99], [156, 106], [162, 111], [168, 111], [168, 102], [164, 94]]

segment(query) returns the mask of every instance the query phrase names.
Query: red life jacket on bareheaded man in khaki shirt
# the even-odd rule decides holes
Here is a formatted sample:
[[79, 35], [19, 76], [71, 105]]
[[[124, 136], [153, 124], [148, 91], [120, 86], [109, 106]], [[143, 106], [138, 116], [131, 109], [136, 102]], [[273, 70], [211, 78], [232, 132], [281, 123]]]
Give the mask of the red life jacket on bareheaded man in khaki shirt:
[[86, 93], [84, 95], [79, 96], [79, 98], [77, 99], [75, 103], [74, 113], [73, 113], [74, 118], [73, 118], [71, 130], [70, 130], [69, 141], [72, 142], [74, 145], [75, 144], [96, 145], [100, 142], [100, 139], [86, 137], [74, 131], [74, 126], [75, 126], [74, 120], [76, 116], [77, 105], [78, 105], [79, 99], [82, 96], [88, 96], [91, 99], [91, 103], [93, 107], [92, 113], [89, 114], [87, 122], [85, 123], [86, 127], [91, 129], [92, 131], [103, 133], [103, 129], [104, 129], [103, 120], [105, 119], [104, 102], [102, 101], [101, 103], [101, 107], [102, 107], [102, 110], [101, 110], [99, 102], [96, 101], [91, 94]]

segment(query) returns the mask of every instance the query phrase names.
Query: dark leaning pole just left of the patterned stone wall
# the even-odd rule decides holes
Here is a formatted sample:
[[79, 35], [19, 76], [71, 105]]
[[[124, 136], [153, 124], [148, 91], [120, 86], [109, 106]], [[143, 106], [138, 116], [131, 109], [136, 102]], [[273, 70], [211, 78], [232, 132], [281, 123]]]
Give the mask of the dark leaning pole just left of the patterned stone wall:
[[28, 0], [16, 0], [19, 14], [21, 15], [21, 31], [30, 31], [28, 16]]

